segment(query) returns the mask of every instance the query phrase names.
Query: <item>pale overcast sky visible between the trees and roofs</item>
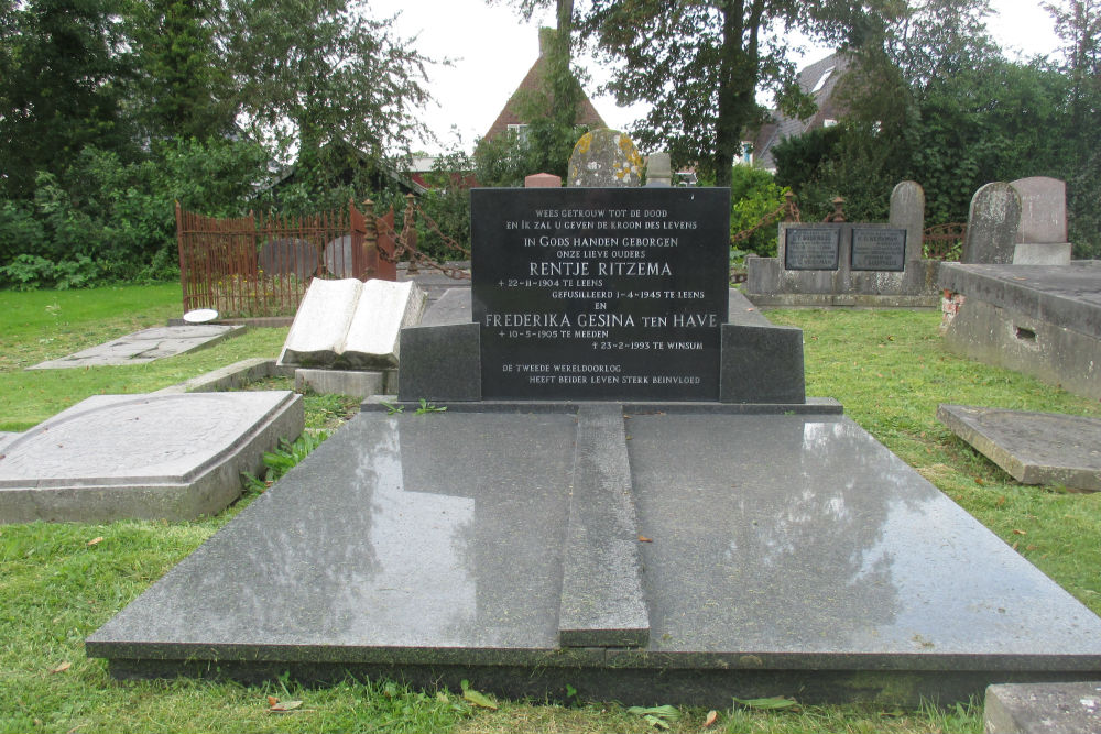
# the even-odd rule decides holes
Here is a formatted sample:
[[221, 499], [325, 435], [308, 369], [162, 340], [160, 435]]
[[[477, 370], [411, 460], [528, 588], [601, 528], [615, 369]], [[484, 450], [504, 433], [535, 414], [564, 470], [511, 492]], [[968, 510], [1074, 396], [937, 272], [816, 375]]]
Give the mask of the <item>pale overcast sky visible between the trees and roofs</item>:
[[[498, 0], [492, 7], [486, 0], [370, 0], [369, 4], [377, 15], [401, 12], [395, 24], [401, 35], [417, 36], [416, 45], [423, 54], [454, 62], [449, 67], [429, 68], [428, 88], [438, 107], [425, 111], [425, 121], [440, 142], [422, 147], [429, 152], [454, 147], [455, 127], [461, 147], [469, 152], [535, 63], [538, 19], [523, 22], [506, 0]], [[1058, 42], [1051, 18], [1039, 2], [993, 0], [992, 4], [996, 14], [988, 23], [1009, 57], [1055, 52]], [[542, 20], [543, 24], [554, 25], [550, 13]], [[796, 57], [811, 63], [829, 53], [828, 48], [806, 48]], [[596, 87], [607, 75], [591, 59], [578, 63], [592, 77], [588, 91], [610, 127], [625, 129], [644, 114], [644, 107], [621, 108], [613, 98], [596, 95]]]

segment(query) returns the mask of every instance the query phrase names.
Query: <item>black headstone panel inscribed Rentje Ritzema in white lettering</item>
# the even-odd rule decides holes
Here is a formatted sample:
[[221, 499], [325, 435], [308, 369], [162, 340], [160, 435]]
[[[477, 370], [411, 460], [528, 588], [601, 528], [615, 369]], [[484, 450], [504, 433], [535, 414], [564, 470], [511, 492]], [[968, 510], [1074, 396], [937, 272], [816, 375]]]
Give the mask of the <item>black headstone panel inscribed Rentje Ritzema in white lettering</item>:
[[728, 189], [470, 194], [484, 398], [718, 399]]

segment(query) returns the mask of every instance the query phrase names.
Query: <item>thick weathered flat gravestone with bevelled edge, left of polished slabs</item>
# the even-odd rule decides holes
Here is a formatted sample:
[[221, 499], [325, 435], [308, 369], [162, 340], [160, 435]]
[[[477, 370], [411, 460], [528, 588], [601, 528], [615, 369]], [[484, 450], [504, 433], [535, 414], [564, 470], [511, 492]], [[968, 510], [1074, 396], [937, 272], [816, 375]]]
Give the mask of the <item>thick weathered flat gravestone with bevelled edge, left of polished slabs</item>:
[[286, 391], [96, 395], [4, 446], [0, 522], [212, 515], [302, 427]]

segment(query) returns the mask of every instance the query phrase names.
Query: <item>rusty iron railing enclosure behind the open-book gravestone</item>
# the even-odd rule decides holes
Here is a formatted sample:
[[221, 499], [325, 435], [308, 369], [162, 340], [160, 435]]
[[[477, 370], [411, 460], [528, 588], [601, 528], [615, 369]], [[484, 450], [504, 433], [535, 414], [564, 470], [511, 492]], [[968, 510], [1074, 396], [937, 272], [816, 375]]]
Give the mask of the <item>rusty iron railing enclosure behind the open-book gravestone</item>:
[[[364, 209], [372, 212], [370, 201]], [[347, 209], [305, 217], [216, 219], [184, 211], [177, 201], [184, 313], [292, 316], [315, 277], [395, 281], [393, 210], [388, 218], [377, 220], [349, 201]]]

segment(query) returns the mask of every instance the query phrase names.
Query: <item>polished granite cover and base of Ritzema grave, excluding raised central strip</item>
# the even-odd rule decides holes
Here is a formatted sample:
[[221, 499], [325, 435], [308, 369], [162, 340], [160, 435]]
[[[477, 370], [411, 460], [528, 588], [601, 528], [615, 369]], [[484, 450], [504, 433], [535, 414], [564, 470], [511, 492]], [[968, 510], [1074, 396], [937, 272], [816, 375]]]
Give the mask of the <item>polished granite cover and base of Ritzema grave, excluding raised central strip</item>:
[[596, 435], [522, 409], [361, 413], [88, 654], [118, 677], [711, 706], [966, 701], [1101, 671], [1101, 620], [841, 416], [628, 408], [648, 642], [563, 647], [575, 441]]

